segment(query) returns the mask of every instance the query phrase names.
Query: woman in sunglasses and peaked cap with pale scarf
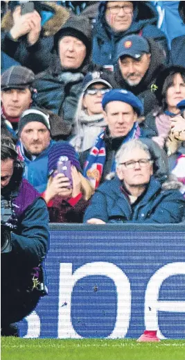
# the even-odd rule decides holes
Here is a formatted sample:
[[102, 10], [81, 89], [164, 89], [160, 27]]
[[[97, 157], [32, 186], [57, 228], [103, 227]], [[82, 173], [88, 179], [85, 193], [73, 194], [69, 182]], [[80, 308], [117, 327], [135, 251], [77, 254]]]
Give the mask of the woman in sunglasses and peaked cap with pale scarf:
[[94, 71], [84, 78], [73, 128], [74, 136], [70, 140], [78, 153], [91, 148], [107, 125], [103, 119], [102, 99], [109, 89], [112, 89], [112, 85], [103, 78], [103, 73]]

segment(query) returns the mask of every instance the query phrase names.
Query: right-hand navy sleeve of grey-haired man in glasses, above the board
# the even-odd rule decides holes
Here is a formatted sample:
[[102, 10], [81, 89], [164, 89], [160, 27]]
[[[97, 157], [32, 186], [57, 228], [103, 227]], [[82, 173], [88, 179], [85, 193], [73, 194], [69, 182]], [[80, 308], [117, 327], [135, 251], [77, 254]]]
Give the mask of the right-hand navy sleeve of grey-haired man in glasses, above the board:
[[[169, 191], [170, 194], [161, 199], [150, 218], [143, 220], [144, 223], [181, 223], [185, 219], [185, 199], [179, 191]], [[177, 192], [179, 194], [177, 194]], [[139, 222], [139, 221], [136, 221]]]

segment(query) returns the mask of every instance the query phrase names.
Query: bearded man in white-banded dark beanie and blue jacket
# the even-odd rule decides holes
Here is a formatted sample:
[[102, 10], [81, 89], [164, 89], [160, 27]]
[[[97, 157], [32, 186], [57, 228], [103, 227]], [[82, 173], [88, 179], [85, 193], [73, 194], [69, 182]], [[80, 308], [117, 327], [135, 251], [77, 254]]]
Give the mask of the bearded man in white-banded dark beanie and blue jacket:
[[19, 159], [25, 162], [24, 178], [39, 193], [48, 181], [48, 153], [53, 144], [49, 114], [39, 108], [26, 110], [19, 120]]

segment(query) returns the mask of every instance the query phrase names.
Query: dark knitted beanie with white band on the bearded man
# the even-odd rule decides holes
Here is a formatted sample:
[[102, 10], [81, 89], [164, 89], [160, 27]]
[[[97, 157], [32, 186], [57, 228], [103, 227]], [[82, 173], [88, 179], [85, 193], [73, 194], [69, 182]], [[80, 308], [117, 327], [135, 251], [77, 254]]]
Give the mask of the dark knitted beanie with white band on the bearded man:
[[39, 108], [31, 108], [25, 110], [21, 114], [18, 128], [19, 135], [21, 134], [24, 126], [26, 126], [26, 124], [30, 123], [31, 121], [38, 121], [39, 123], [43, 123], [49, 131], [51, 130], [51, 126], [49, 123], [49, 114], [47, 114], [43, 110], [40, 110]]

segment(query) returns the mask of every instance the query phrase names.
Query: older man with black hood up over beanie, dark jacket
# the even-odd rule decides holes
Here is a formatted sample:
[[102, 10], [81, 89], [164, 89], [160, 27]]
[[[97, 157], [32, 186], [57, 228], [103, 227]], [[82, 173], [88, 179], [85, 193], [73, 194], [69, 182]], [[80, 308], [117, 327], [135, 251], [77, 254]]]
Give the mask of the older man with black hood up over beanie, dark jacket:
[[90, 69], [91, 25], [86, 17], [73, 16], [55, 35], [58, 59], [35, 80], [37, 105], [73, 123], [82, 81]]

